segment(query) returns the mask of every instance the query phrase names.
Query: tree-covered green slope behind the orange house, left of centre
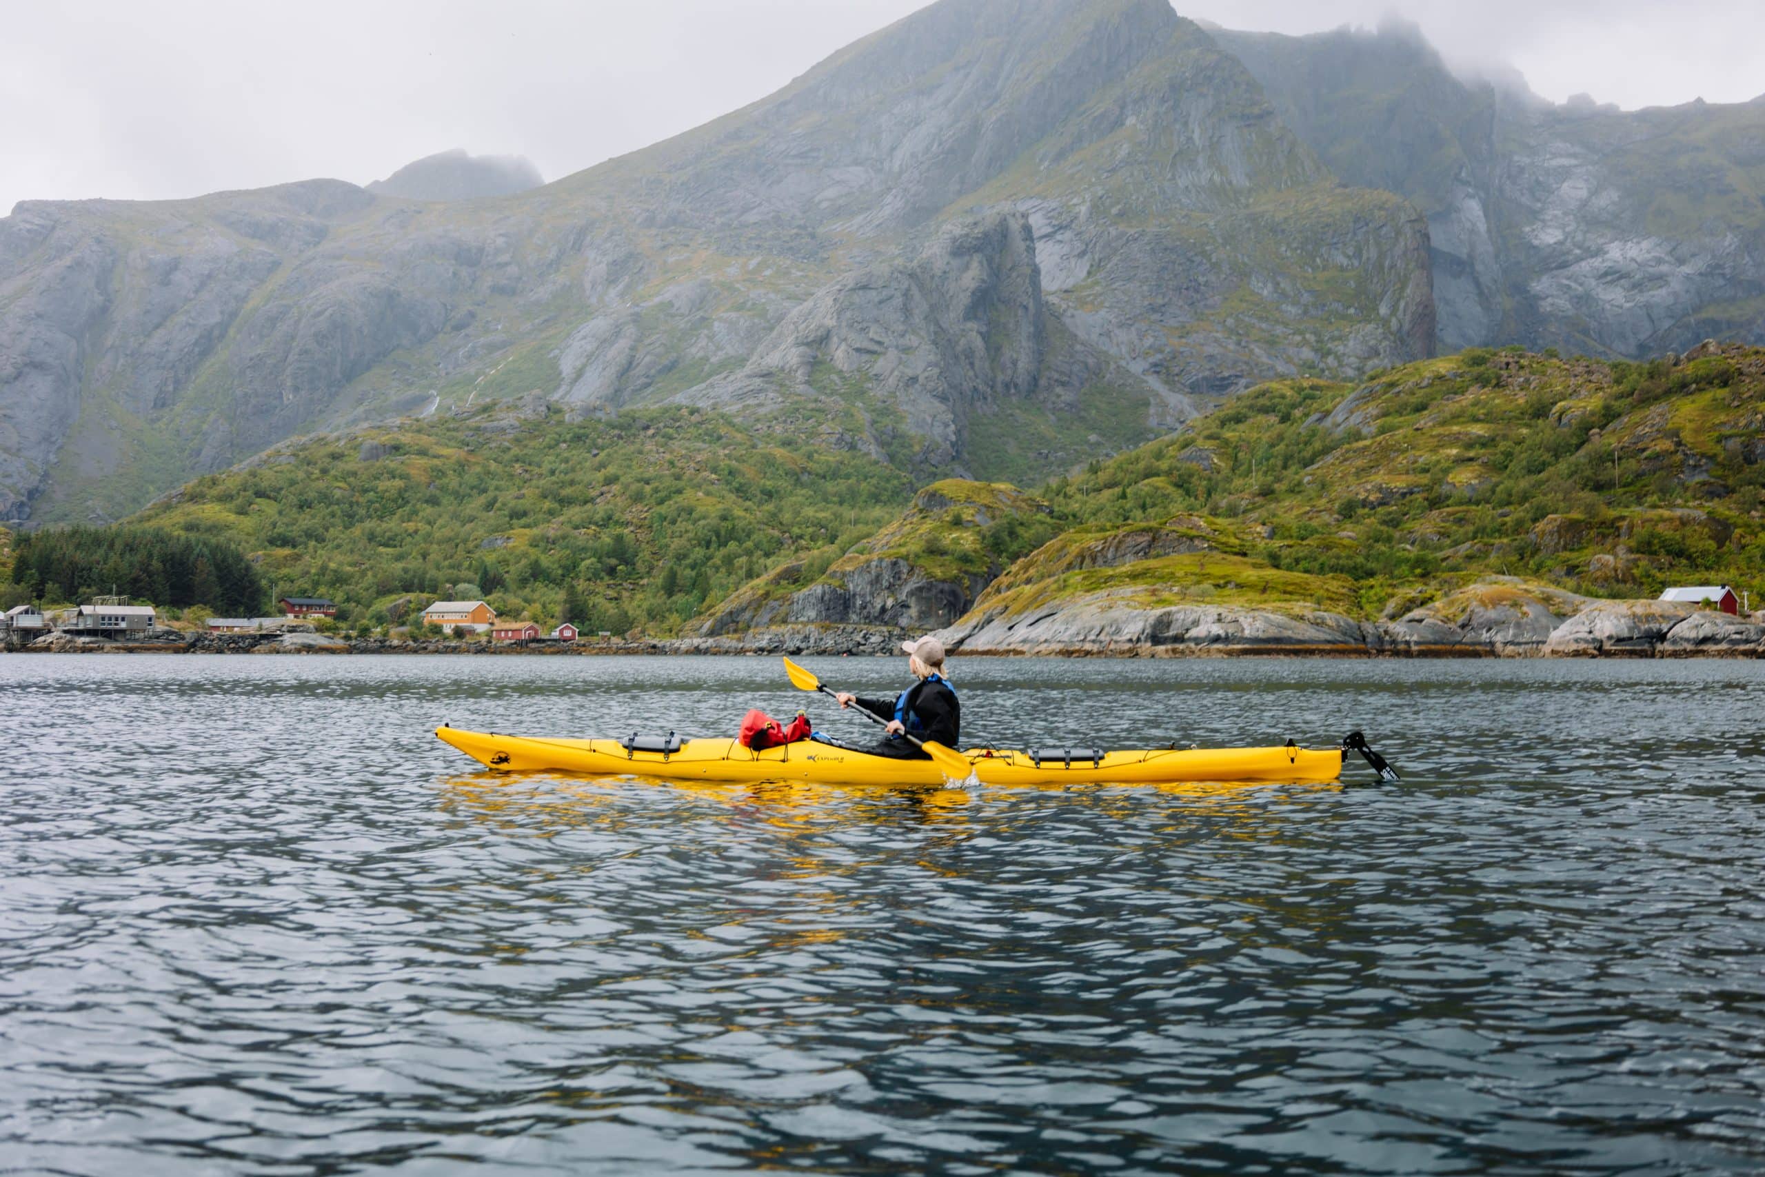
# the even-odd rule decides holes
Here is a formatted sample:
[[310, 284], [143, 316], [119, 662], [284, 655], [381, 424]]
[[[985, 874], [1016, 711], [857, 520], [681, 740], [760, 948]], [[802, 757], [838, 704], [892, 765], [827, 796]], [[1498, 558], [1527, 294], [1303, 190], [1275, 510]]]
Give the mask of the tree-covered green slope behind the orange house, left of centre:
[[586, 625], [667, 633], [782, 558], [831, 561], [909, 492], [872, 457], [722, 415], [570, 424], [494, 404], [288, 443], [136, 519], [233, 536], [281, 591], [332, 596], [351, 621], [466, 584], [510, 618], [552, 621], [575, 589]]

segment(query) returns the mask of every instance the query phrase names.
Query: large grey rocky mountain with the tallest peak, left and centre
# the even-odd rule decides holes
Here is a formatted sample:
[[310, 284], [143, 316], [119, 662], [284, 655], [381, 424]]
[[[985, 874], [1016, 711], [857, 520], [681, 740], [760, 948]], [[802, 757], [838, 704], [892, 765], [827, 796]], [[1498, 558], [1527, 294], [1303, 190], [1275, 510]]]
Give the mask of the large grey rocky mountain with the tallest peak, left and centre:
[[1343, 187], [1165, 0], [941, 0], [510, 196], [21, 203], [0, 517], [111, 519], [297, 432], [528, 392], [833, 415], [914, 471], [1040, 476], [1433, 337], [1423, 219]]

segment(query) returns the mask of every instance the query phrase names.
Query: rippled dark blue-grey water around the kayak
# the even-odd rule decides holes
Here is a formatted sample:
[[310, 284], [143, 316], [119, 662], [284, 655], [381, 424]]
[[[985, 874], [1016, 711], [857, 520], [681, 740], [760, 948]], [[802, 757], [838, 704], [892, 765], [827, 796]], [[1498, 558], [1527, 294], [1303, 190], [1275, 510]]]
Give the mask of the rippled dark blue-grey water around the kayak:
[[1765, 665], [953, 671], [971, 741], [1364, 727], [1405, 782], [494, 776], [429, 729], [805, 697], [0, 656], [0, 1172], [1765, 1168]]

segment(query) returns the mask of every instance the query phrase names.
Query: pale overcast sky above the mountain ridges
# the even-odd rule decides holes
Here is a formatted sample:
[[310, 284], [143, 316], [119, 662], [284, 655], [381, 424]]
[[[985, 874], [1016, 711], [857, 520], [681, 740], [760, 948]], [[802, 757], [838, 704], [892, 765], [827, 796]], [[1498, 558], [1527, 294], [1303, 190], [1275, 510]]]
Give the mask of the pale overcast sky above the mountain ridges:
[[[921, 0], [0, 0], [0, 212], [462, 146], [547, 180], [752, 102]], [[1460, 62], [1624, 108], [1765, 92], [1765, 0], [1181, 0], [1288, 34], [1398, 12]]]

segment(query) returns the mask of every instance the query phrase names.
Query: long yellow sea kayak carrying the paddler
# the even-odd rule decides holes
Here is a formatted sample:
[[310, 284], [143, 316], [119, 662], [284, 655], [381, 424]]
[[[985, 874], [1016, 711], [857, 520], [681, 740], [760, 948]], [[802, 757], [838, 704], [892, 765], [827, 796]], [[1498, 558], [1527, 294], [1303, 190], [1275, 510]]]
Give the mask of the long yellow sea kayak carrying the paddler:
[[[734, 739], [549, 739], [438, 727], [436, 738], [487, 768], [512, 773], [568, 771], [667, 780], [803, 780], [838, 785], [943, 785], [932, 761], [902, 761], [801, 741], [754, 752]], [[1343, 748], [1153, 748], [1101, 752], [1043, 748], [962, 753], [985, 785], [1327, 782], [1341, 775]]]

